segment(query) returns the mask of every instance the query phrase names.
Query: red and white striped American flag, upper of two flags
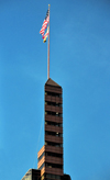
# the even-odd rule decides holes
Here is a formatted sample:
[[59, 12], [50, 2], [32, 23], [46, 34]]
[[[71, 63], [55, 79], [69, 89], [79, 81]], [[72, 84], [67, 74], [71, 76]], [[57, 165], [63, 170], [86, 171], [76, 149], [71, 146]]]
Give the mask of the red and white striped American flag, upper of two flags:
[[41, 31], [40, 31], [40, 34], [42, 34], [42, 37], [43, 37], [43, 38], [44, 38], [45, 29], [47, 27], [48, 21], [50, 21], [50, 10], [47, 10], [47, 12], [46, 12], [46, 16], [45, 16], [45, 19], [44, 19], [42, 29], [41, 29]]

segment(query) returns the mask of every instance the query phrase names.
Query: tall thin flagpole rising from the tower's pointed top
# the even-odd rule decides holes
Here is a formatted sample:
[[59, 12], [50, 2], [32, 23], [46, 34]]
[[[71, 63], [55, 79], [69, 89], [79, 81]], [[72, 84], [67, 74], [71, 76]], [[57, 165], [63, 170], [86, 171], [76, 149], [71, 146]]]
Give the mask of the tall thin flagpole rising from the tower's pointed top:
[[[48, 4], [48, 15], [50, 15], [50, 7], [51, 4]], [[50, 20], [48, 20], [48, 48], [47, 48], [47, 79], [48, 78], [50, 78]]]

